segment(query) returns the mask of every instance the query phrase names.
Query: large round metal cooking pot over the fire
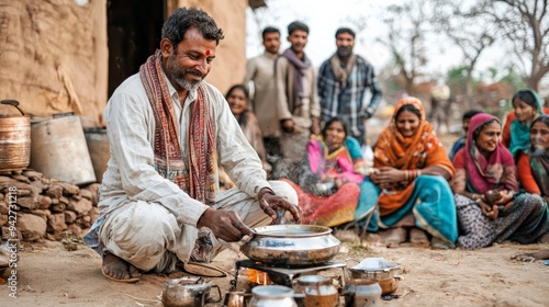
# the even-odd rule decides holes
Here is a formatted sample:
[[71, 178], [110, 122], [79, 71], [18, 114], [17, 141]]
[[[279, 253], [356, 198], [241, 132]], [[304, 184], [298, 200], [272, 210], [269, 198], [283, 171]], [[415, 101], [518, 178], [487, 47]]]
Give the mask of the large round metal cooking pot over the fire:
[[269, 265], [306, 266], [324, 263], [339, 251], [339, 240], [328, 227], [316, 225], [270, 225], [254, 228], [240, 251]]

